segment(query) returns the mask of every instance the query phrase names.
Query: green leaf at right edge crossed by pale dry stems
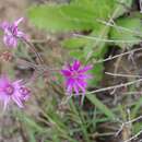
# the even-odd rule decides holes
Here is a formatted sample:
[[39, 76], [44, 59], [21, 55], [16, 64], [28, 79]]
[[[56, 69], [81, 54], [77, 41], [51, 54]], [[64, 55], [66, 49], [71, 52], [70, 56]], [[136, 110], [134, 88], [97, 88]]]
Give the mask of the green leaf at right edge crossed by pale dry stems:
[[141, 22], [139, 17], [121, 17], [117, 20], [117, 26], [113, 27], [110, 31], [110, 39], [116, 40], [115, 44], [120, 47], [132, 47], [139, 44], [140, 37], [142, 37], [142, 34], [140, 34], [142, 31]]

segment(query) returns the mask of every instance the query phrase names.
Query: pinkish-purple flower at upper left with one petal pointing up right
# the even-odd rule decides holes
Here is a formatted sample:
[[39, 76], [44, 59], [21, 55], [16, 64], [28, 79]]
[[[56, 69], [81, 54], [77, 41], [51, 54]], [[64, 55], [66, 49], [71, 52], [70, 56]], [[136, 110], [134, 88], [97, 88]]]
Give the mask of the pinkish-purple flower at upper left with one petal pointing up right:
[[3, 43], [8, 47], [16, 47], [17, 46], [17, 38], [26, 38], [25, 34], [19, 29], [19, 24], [23, 21], [23, 17], [20, 17], [14, 23], [3, 22], [1, 24], [1, 28], [4, 32]]

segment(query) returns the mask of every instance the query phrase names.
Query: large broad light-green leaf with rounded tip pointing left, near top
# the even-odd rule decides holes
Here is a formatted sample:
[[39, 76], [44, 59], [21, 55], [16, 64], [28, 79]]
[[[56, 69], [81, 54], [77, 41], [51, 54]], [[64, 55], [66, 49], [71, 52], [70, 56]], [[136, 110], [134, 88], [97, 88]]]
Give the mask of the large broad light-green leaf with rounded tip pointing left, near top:
[[28, 15], [36, 26], [51, 32], [90, 29], [94, 26], [94, 13], [73, 4], [32, 7]]

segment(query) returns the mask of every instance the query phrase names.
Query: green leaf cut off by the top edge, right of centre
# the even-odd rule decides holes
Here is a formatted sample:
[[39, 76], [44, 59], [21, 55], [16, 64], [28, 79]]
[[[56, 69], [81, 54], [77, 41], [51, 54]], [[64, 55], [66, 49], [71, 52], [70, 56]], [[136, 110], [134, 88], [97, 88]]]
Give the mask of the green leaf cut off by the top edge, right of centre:
[[72, 0], [72, 3], [94, 10], [99, 19], [108, 16], [116, 19], [128, 12], [132, 0]]

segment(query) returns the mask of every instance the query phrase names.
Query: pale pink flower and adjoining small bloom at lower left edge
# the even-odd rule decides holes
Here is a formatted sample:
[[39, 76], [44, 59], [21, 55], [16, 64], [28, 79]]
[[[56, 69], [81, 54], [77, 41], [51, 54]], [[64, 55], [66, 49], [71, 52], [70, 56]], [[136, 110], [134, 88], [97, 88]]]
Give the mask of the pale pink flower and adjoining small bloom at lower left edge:
[[0, 100], [4, 105], [13, 100], [20, 108], [23, 108], [23, 102], [29, 97], [29, 91], [22, 84], [22, 80], [11, 82], [5, 75], [0, 76]]

